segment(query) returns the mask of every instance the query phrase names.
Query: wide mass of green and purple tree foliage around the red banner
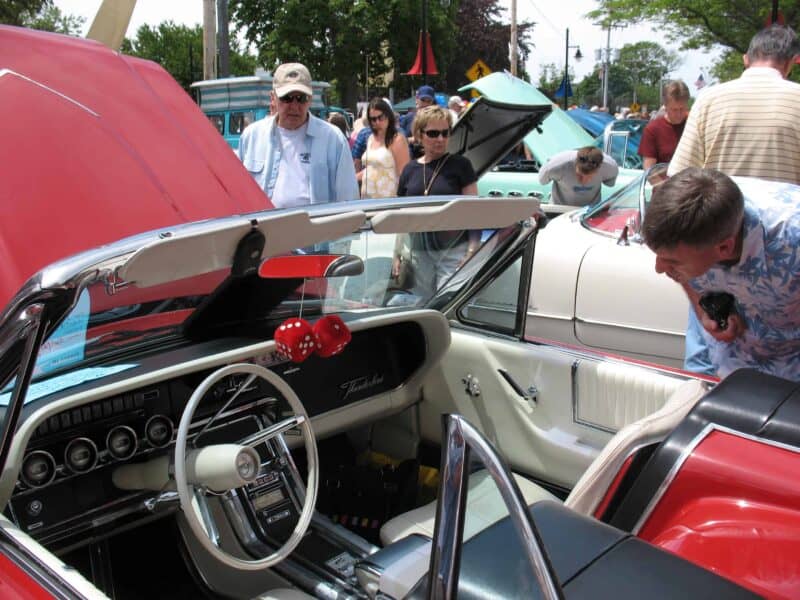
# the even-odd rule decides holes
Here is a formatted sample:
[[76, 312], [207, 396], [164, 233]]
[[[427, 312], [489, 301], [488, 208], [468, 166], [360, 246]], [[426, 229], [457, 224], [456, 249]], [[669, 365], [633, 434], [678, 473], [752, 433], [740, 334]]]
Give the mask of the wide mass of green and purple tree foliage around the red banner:
[[[404, 98], [422, 83], [405, 73], [417, 55], [423, 0], [231, 0], [230, 14], [259, 64], [274, 70], [302, 62], [315, 79], [335, 85], [343, 105], [354, 106], [365, 84], [370, 95], [391, 85]], [[531, 27], [518, 27], [520, 65]], [[439, 71], [428, 83], [438, 90], [465, 84], [478, 58], [493, 70], [509, 66], [509, 26], [500, 22], [498, 0], [428, 0], [427, 28]]]

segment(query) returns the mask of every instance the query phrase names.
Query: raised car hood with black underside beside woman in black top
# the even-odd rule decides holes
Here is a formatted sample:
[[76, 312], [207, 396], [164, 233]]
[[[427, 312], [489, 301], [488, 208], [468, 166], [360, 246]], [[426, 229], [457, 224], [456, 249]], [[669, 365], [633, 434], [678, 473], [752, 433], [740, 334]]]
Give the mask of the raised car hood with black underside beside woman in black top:
[[549, 102], [520, 98], [501, 102], [487, 97], [473, 102], [458, 119], [447, 145], [453, 154], [463, 154], [480, 177], [540, 126], [552, 110]]

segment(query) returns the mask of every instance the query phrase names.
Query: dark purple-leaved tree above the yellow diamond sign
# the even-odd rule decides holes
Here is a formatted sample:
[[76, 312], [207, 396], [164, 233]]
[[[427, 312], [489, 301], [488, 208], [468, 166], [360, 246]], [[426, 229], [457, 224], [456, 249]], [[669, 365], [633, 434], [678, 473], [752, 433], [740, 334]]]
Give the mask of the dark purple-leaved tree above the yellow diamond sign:
[[[456, 90], [467, 83], [466, 71], [477, 59], [483, 60], [493, 71], [510, 68], [509, 40], [511, 26], [500, 21], [501, 8], [497, 0], [461, 0], [456, 17], [456, 47], [463, 51], [457, 53], [447, 65], [445, 74], [446, 89]], [[530, 56], [530, 34], [534, 23], [517, 25], [518, 65], [525, 64]], [[517, 73], [527, 79], [527, 73], [520, 68]]]

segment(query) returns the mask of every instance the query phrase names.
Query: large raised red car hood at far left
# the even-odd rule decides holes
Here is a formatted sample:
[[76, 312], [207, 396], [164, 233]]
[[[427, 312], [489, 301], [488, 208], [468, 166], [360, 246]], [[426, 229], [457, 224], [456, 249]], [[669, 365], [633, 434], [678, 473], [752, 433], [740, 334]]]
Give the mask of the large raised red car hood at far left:
[[157, 64], [0, 26], [0, 307], [49, 263], [119, 238], [271, 208]]

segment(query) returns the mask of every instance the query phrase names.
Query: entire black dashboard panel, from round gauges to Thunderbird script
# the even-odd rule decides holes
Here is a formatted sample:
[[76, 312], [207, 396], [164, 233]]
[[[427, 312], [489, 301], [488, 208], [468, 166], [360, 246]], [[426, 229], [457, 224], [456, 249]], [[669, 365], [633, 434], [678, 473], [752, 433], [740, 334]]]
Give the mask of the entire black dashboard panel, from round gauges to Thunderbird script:
[[[242, 345], [238, 339], [233, 347]], [[168, 366], [165, 361], [171, 361], [170, 365], [190, 363], [231, 349], [230, 342], [216, 340], [175, 348], [158, 357], [143, 356], [127, 377]], [[313, 417], [399, 387], [422, 367], [425, 358], [422, 327], [402, 322], [354, 332], [345, 351], [331, 358], [312, 356], [297, 365], [266, 354], [250, 361], [281, 375]], [[94, 400], [41, 422], [26, 448], [10, 504], [23, 531], [55, 546], [69, 546], [102, 535], [102, 530], [126, 520], [147, 518], [149, 515], [142, 515], [143, 502], [156, 493], [120, 490], [113, 484], [112, 473], [120, 464], [172, 452], [189, 398], [217, 368]], [[226, 407], [231, 414], [221, 422], [248, 415], [279, 420], [289, 408], [286, 401], [260, 379], [242, 390], [245, 379], [243, 375], [229, 376], [209, 390], [195, 412], [194, 426], [199, 427], [237, 392], [236, 401]], [[32, 402], [25, 412], [30, 414], [43, 402], [92, 387], [92, 382], [87, 382], [60, 391]]]

